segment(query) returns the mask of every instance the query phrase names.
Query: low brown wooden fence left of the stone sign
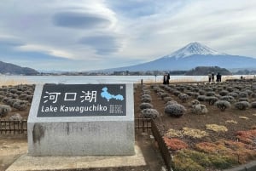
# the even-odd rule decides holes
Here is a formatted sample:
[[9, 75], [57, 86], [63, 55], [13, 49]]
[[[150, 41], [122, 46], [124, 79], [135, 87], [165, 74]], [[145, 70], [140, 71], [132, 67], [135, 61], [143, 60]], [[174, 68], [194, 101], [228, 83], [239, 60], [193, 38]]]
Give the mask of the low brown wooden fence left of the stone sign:
[[9, 121], [0, 119], [0, 134], [26, 134], [26, 120]]

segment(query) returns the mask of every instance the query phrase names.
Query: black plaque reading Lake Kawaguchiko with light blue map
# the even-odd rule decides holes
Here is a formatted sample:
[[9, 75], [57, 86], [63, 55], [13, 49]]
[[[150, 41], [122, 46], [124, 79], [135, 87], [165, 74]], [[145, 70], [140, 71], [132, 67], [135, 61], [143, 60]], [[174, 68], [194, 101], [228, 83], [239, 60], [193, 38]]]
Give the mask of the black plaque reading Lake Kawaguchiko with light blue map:
[[125, 116], [125, 84], [45, 84], [38, 117]]

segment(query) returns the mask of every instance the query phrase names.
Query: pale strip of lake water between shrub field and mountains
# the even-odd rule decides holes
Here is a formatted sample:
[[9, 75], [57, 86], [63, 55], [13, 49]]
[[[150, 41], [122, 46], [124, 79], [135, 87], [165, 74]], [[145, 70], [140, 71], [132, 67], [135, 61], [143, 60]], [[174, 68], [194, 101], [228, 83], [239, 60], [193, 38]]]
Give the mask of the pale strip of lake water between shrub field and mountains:
[[[241, 76], [224, 76], [227, 78], [240, 78]], [[244, 76], [253, 77], [253, 76]], [[0, 84], [11, 85], [19, 83], [65, 83], [65, 84], [88, 84], [88, 83], [162, 83], [163, 76], [5, 76], [0, 75]], [[207, 82], [207, 76], [171, 76], [171, 83], [178, 82]]]

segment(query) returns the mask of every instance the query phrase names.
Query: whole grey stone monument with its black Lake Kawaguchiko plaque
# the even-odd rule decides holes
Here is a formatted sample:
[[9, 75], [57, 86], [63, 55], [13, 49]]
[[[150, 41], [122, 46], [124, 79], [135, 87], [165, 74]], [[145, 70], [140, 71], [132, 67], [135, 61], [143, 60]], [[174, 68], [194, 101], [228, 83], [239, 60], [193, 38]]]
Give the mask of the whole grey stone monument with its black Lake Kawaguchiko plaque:
[[28, 155], [134, 155], [133, 103], [132, 84], [37, 85]]

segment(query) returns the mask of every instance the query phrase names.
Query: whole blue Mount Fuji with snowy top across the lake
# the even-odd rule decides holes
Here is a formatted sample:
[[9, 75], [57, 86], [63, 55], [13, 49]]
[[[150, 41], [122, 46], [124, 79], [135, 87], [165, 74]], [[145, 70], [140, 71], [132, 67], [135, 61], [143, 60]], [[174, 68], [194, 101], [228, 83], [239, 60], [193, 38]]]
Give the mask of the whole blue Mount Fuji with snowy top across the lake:
[[105, 71], [186, 71], [196, 66], [218, 66], [226, 69], [256, 68], [256, 59], [220, 53], [201, 43], [189, 43], [157, 60], [108, 69]]

